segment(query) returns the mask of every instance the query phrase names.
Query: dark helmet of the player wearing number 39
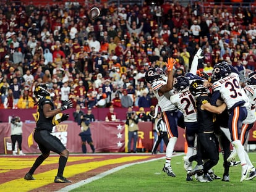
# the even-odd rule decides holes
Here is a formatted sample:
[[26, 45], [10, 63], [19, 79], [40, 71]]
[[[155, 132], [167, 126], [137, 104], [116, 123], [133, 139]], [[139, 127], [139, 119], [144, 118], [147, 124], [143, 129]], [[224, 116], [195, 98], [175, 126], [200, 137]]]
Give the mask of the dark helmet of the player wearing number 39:
[[228, 62], [226, 61], [220, 62], [213, 67], [211, 81], [213, 82], [218, 81], [221, 78], [227, 77], [230, 73], [231, 73], [231, 69], [229, 67]]

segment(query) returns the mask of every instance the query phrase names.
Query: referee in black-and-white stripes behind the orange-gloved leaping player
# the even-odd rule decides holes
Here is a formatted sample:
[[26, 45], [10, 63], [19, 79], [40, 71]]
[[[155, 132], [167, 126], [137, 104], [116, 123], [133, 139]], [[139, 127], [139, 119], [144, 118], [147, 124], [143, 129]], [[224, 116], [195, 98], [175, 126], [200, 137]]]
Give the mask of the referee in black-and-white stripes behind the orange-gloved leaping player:
[[164, 123], [163, 119], [161, 118], [161, 112], [158, 112], [158, 120], [155, 123], [155, 130], [157, 133], [157, 138], [155, 140], [155, 143], [153, 144], [152, 154], [156, 154], [156, 150], [161, 142], [161, 140], [164, 140], [165, 145], [168, 145], [169, 138], [167, 133], [167, 127]]

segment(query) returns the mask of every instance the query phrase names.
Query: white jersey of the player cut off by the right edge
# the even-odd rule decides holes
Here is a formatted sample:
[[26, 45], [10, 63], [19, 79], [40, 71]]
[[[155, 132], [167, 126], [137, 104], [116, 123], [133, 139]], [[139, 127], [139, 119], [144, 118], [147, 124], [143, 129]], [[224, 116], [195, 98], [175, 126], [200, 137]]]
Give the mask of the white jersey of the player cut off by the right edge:
[[255, 85], [247, 85], [244, 87], [245, 94], [249, 98], [249, 105], [246, 107], [247, 109], [247, 117], [242, 123], [250, 124], [254, 123], [256, 120], [255, 116], [255, 101], [256, 101], [256, 86]]

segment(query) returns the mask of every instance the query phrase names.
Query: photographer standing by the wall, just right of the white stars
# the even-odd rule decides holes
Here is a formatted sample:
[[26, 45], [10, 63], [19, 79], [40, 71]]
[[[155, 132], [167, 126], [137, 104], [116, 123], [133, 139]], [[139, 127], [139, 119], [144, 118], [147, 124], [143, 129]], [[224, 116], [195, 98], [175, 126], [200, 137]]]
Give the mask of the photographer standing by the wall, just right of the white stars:
[[[130, 109], [131, 107], [129, 107]], [[128, 112], [126, 114], [126, 125], [128, 125], [128, 152], [130, 153], [130, 144], [132, 143], [132, 138], [134, 140], [134, 145], [133, 145], [133, 152], [136, 153], [137, 149], [136, 149], [136, 143], [138, 140], [138, 123], [139, 123], [139, 119], [136, 115], [135, 111], [130, 111], [128, 109]]]

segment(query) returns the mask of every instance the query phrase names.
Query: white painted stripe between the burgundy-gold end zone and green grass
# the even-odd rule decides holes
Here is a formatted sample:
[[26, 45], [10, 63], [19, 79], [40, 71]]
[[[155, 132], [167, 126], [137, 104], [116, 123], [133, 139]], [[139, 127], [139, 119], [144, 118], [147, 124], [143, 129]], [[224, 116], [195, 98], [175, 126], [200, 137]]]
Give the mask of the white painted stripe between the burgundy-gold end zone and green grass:
[[[174, 154], [173, 157], [175, 156], [181, 156], [181, 155], [184, 155], [184, 153], [181, 153], [181, 154]], [[103, 172], [103, 173], [100, 173], [98, 175], [95, 175], [93, 177], [90, 177], [90, 178], [87, 178], [85, 180], [82, 180], [80, 182], [77, 182], [77, 183], [74, 183], [72, 185], [69, 185], [69, 186], [66, 186], [62, 189], [60, 189], [59, 191], [56, 191], [56, 192], [66, 192], [66, 191], [71, 191], [71, 190], [74, 190], [75, 188], [79, 188], [80, 186], [83, 186], [85, 184], [88, 184], [88, 183], [91, 183], [91, 182], [94, 182], [95, 180], [98, 180], [100, 178], [103, 178], [103, 177], [106, 177], [107, 175], [111, 174], [111, 173], [114, 173], [114, 172], [117, 172], [121, 169], [124, 169], [126, 167], [130, 167], [131, 165], [136, 165], [136, 164], [143, 164], [145, 162], [151, 162], [151, 161], [156, 161], [156, 160], [159, 160], [159, 159], [164, 159], [165, 157], [160, 157], [160, 158], [157, 158], [157, 159], [150, 159], [150, 160], [147, 160], [147, 161], [140, 161], [140, 162], [134, 162], [134, 163], [131, 163], [131, 164], [125, 164], [125, 165], [121, 165], [119, 167], [115, 167], [113, 169], [110, 169], [110, 170], [107, 170], [106, 172]]]

